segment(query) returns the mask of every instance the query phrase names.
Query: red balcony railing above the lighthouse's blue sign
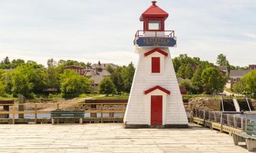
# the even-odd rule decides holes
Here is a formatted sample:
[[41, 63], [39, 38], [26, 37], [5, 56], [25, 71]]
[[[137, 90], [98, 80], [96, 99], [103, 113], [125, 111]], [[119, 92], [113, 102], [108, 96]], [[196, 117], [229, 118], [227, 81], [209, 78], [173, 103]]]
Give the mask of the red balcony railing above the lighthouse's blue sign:
[[[148, 32], [150, 35], [145, 35]], [[135, 33], [134, 41], [135, 44], [137, 37], [175, 37], [174, 31], [143, 31], [139, 30]]]

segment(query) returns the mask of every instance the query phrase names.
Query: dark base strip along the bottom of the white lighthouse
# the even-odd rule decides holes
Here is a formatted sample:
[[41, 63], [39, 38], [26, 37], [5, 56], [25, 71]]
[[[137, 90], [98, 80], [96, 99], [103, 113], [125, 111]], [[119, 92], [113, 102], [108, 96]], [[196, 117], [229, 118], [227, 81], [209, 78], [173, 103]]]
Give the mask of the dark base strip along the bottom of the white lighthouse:
[[125, 124], [126, 129], [185, 129], [188, 124], [166, 124], [166, 125], [146, 125], [146, 124]]

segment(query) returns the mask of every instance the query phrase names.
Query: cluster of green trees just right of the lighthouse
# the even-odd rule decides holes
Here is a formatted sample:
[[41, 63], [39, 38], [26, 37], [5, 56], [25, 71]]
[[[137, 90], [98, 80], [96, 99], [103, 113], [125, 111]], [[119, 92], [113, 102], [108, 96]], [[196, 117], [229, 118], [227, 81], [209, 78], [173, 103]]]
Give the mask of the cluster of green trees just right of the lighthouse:
[[[223, 76], [216, 65], [227, 67], [227, 75]], [[180, 54], [180, 56], [173, 58], [173, 67], [177, 77], [185, 79], [180, 82], [180, 85], [186, 86], [188, 94], [212, 95], [223, 92], [230, 70], [248, 69], [248, 67], [230, 65], [224, 54], [218, 55], [216, 65], [208, 61], [201, 61], [198, 57], [190, 57], [187, 54]]]

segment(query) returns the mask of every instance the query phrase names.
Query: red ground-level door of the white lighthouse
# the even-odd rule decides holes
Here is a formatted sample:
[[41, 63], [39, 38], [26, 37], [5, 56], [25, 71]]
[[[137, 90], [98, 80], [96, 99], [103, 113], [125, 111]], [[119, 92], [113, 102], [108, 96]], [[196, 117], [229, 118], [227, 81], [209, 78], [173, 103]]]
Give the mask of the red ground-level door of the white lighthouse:
[[151, 125], [162, 125], [162, 96], [151, 96]]

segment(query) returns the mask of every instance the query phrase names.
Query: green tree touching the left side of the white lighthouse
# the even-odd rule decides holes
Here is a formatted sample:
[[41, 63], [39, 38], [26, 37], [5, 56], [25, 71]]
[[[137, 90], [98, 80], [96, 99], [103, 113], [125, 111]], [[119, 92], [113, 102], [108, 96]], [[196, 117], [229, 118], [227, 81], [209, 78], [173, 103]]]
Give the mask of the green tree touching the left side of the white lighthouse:
[[124, 91], [130, 92], [132, 87], [132, 81], [135, 73], [135, 67], [132, 63], [128, 67], [123, 67], [122, 69], [122, 79], [124, 80]]

